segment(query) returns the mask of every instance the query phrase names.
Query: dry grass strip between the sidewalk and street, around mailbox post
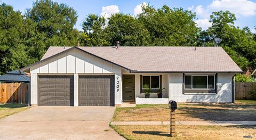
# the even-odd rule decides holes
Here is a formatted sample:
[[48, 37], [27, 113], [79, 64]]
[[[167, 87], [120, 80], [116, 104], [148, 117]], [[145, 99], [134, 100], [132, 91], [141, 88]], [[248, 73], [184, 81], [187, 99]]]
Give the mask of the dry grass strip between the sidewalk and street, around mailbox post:
[[176, 126], [177, 136], [170, 137], [170, 126], [111, 126], [127, 139], [255, 139], [256, 126]]

